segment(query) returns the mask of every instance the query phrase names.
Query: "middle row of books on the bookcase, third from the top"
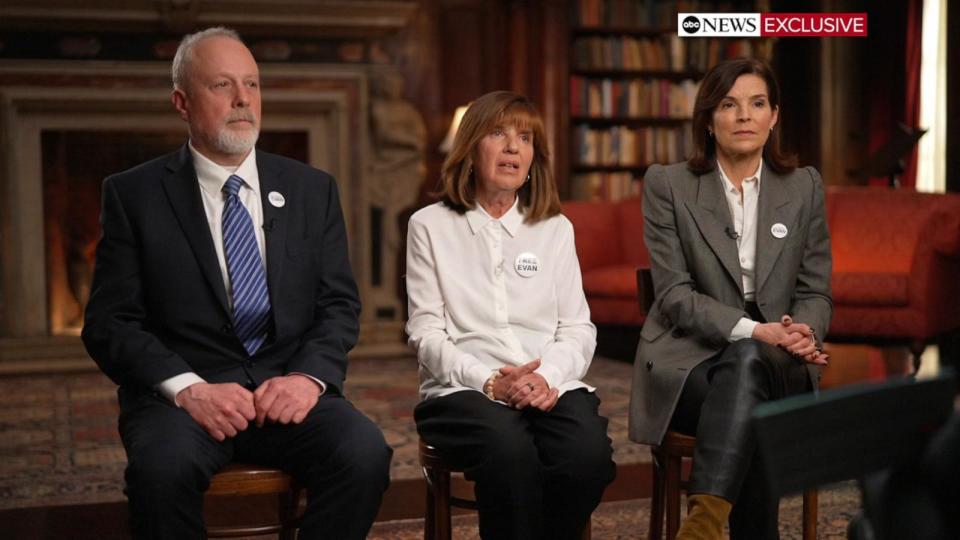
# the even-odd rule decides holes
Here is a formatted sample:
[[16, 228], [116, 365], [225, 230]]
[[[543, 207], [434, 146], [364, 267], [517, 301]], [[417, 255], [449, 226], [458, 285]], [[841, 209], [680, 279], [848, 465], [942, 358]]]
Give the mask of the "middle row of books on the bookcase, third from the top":
[[570, 114], [597, 118], [690, 118], [700, 83], [692, 79], [570, 77]]

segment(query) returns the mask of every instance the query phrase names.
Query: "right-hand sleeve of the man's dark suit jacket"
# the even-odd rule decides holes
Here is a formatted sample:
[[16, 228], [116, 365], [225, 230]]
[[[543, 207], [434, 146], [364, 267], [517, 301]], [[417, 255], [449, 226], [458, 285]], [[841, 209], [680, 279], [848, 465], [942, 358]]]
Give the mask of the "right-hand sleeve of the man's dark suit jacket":
[[326, 178], [313, 322], [303, 333], [300, 348], [288, 362], [286, 372], [316, 377], [342, 393], [347, 353], [356, 345], [360, 333], [360, 295], [350, 268], [337, 184], [333, 178]]

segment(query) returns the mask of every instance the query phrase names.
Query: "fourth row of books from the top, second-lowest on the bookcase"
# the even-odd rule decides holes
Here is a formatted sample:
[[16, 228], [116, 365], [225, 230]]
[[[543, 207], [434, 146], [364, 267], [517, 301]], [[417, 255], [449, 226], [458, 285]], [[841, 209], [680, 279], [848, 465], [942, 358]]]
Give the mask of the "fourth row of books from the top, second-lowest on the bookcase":
[[578, 125], [573, 134], [574, 163], [582, 166], [646, 167], [686, 159], [691, 148], [687, 123], [679, 127]]

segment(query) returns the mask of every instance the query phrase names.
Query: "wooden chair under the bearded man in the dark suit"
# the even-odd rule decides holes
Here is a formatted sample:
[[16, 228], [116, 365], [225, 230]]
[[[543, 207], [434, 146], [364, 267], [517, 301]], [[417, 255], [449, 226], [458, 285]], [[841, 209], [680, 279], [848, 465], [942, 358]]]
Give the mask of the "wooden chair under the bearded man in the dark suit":
[[277, 520], [251, 525], [207, 527], [210, 538], [235, 538], [279, 533], [281, 540], [294, 540], [300, 524], [302, 489], [280, 469], [246, 463], [231, 463], [210, 480], [207, 497], [276, 495]]

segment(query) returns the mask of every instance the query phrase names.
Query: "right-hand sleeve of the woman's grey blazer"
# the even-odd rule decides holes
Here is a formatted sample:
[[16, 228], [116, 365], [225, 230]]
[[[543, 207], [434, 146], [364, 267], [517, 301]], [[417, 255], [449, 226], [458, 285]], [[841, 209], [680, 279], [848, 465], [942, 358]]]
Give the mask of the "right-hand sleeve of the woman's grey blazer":
[[830, 292], [830, 274], [833, 259], [830, 255], [830, 233], [827, 230], [823, 180], [813, 167], [807, 167], [813, 183], [810, 197], [810, 219], [806, 227], [806, 244], [803, 259], [797, 273], [790, 313], [794, 320], [810, 325], [818, 341], [827, 335], [833, 316], [833, 300]]

